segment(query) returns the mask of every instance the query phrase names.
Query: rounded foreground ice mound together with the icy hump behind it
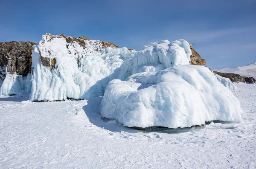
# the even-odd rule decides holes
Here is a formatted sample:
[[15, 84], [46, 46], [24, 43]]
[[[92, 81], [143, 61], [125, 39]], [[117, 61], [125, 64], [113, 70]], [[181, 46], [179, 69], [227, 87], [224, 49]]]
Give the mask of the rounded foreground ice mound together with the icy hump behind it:
[[239, 101], [227, 88], [232, 88], [231, 84], [221, 79], [224, 87], [209, 68], [189, 65], [190, 55], [185, 40], [145, 46], [121, 65], [120, 69], [128, 73], [123, 77], [130, 76], [125, 81], [119, 78], [109, 82], [102, 116], [143, 128], [241, 121]]

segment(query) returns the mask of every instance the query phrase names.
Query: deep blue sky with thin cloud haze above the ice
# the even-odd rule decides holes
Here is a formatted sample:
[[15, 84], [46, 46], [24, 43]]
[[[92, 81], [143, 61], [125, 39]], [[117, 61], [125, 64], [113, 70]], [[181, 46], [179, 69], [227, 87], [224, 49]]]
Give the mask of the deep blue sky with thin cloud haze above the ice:
[[256, 0], [0, 0], [0, 42], [86, 36], [140, 50], [186, 39], [209, 68], [256, 62]]

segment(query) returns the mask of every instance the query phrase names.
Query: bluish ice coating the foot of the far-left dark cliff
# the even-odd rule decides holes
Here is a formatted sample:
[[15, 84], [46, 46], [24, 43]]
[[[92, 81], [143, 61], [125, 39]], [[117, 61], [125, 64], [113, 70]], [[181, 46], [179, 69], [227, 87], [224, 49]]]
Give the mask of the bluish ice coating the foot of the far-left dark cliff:
[[32, 75], [27, 76], [6, 73], [6, 77], [0, 87], [0, 95], [14, 95], [20, 93], [22, 90], [26, 92], [31, 91]]

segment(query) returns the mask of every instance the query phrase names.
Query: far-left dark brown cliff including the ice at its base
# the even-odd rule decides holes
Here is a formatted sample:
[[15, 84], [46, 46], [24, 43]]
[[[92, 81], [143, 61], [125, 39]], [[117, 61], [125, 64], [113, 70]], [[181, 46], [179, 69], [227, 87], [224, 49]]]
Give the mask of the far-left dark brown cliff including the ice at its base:
[[26, 90], [26, 79], [31, 79], [31, 52], [35, 44], [0, 42], [0, 95], [12, 95]]

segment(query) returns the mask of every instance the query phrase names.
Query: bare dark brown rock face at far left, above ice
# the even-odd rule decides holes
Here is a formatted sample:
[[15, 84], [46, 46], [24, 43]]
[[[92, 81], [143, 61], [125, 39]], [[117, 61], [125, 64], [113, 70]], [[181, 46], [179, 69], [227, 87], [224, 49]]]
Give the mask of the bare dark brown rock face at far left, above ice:
[[0, 66], [6, 67], [7, 73], [26, 76], [31, 72], [34, 42], [0, 42]]

